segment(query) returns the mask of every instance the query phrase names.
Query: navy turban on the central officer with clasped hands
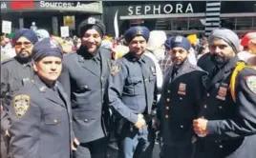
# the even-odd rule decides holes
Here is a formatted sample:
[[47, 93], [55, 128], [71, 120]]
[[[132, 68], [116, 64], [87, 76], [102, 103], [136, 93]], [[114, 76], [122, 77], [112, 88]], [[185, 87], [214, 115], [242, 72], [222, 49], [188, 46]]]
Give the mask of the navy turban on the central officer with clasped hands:
[[149, 34], [150, 31], [146, 27], [131, 27], [129, 30], [125, 31], [124, 39], [127, 44], [130, 44], [136, 36], [142, 36], [148, 42]]

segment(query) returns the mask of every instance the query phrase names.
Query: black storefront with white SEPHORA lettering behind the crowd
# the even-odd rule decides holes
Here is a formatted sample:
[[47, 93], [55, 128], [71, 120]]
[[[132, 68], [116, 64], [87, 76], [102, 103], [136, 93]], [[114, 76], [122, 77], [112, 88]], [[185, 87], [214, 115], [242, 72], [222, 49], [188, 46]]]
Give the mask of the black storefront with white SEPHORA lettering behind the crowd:
[[[103, 3], [107, 32], [118, 36], [134, 25], [167, 34], [204, 34], [206, 1], [130, 1]], [[221, 1], [220, 26], [244, 34], [256, 30], [255, 1]]]

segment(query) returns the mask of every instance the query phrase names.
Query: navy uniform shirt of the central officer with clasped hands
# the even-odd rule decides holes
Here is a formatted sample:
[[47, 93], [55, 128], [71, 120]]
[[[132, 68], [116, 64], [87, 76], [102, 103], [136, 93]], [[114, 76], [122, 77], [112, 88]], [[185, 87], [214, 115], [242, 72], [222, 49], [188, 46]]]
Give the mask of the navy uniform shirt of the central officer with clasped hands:
[[119, 118], [134, 125], [139, 113], [146, 115], [156, 109], [156, 86], [154, 62], [144, 54], [137, 59], [132, 52], [128, 52], [117, 60], [112, 69], [110, 106]]

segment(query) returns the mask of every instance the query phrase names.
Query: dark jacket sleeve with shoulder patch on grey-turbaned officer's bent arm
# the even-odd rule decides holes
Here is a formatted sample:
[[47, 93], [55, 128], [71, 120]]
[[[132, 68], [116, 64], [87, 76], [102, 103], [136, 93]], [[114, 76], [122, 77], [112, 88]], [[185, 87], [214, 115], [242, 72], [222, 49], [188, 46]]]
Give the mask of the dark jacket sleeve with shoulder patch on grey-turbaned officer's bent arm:
[[[209, 136], [217, 138], [244, 137], [256, 134], [256, 75], [249, 85], [247, 76], [237, 78], [236, 117], [226, 120], [209, 120], [207, 129]], [[253, 91], [254, 89], [254, 91]]]

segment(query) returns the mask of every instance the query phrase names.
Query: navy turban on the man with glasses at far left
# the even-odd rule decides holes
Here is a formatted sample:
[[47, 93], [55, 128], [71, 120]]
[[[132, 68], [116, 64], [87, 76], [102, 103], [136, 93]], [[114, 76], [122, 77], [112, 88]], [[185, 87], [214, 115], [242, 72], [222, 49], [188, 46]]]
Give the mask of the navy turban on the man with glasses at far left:
[[32, 30], [28, 30], [28, 29], [20, 29], [20, 30], [16, 30], [14, 32], [14, 36], [13, 36], [13, 44], [15, 45], [17, 40], [20, 38], [20, 37], [26, 37], [28, 38], [32, 44], [35, 44], [37, 41], [38, 41], [38, 38], [36, 36], [36, 34], [32, 31]]

